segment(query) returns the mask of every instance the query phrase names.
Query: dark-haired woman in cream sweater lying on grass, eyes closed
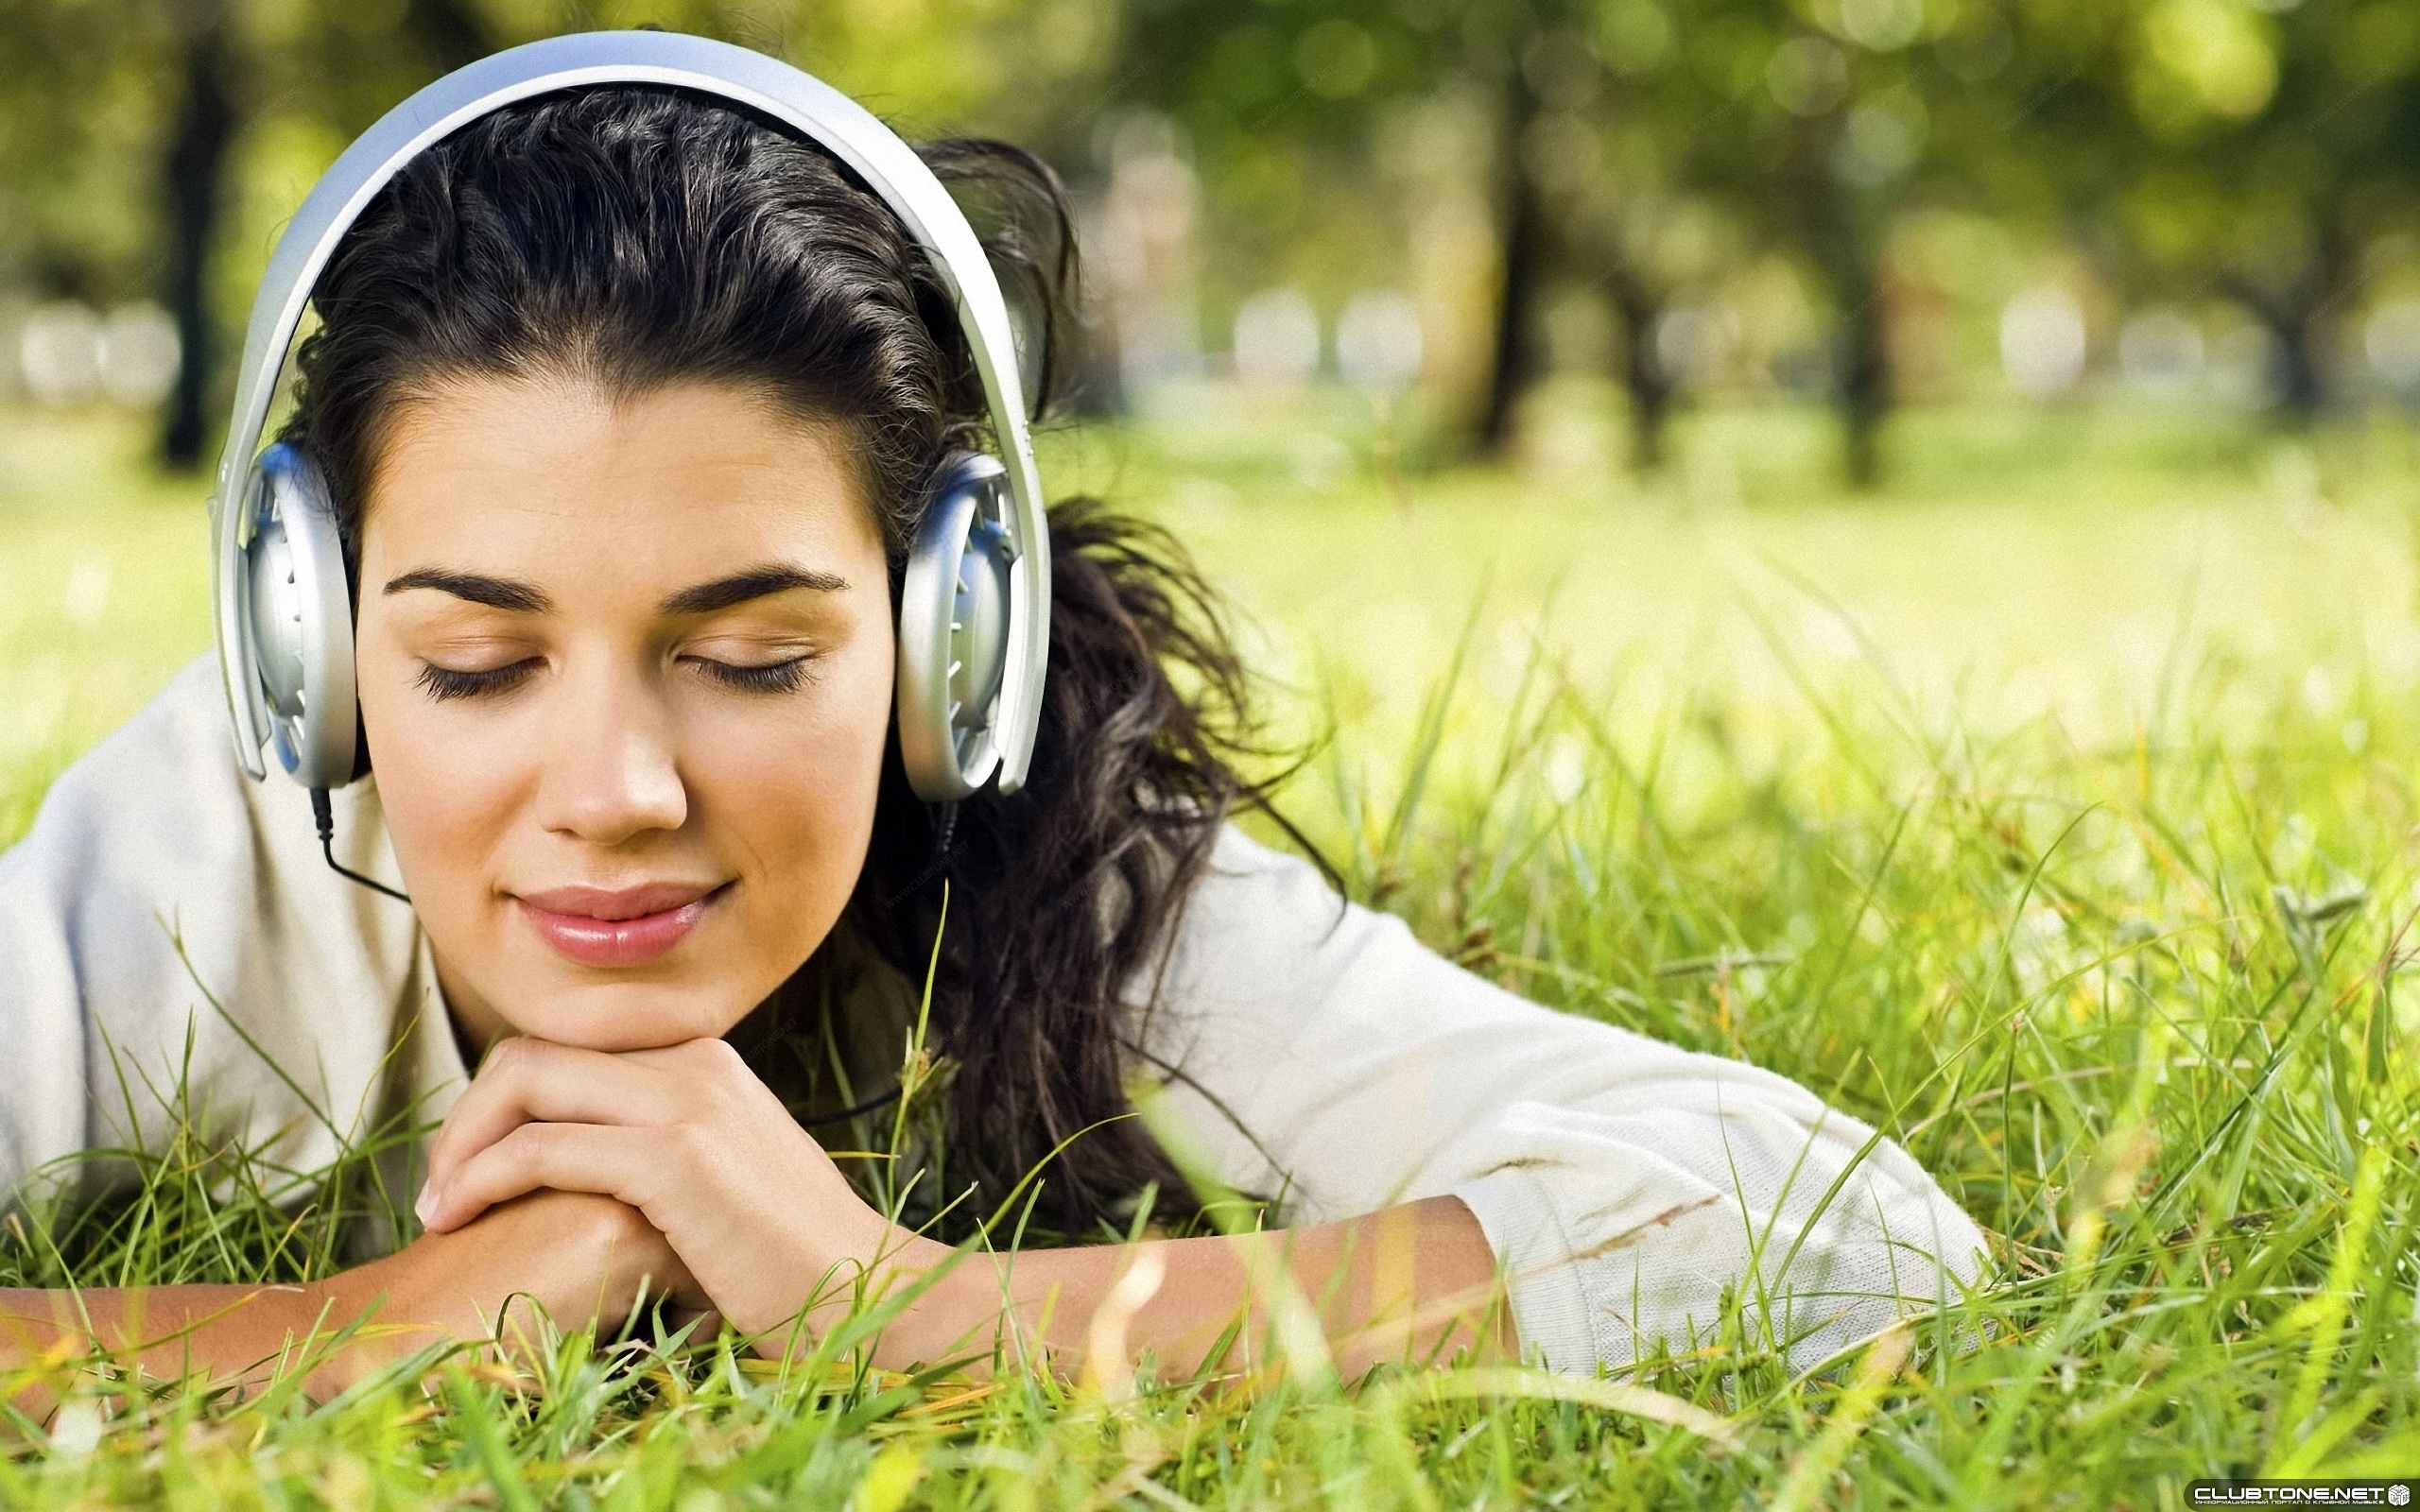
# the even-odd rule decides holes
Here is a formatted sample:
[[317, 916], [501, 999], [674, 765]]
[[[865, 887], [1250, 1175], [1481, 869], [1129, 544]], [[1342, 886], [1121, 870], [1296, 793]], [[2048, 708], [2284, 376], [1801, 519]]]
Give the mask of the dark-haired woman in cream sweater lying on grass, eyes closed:
[[[929, 160], [1026, 227], [995, 254], [1048, 375], [1055, 181]], [[1287, 1297], [1346, 1372], [1624, 1367], [1728, 1297], [1803, 1364], [1977, 1275], [1866, 1125], [1500, 992], [1232, 827], [1266, 808], [1244, 670], [1176, 544], [1096, 503], [1050, 513], [1031, 781], [917, 801], [895, 595], [985, 404], [932, 261], [818, 148], [658, 87], [513, 104], [382, 189], [315, 300], [283, 435], [339, 518], [373, 769], [336, 835], [409, 907], [184, 673], [0, 859], [0, 1183], [157, 1144], [121, 1086], [184, 1074], [206, 1137], [288, 1168], [443, 1113], [426, 1231], [317, 1285], [15, 1292], [0, 1355], [184, 1328], [157, 1369], [237, 1377], [373, 1318], [336, 1384], [513, 1297], [578, 1326], [649, 1289], [777, 1355], [852, 1280], [937, 1277], [881, 1364], [1116, 1335], [1101, 1369], [1234, 1369]], [[903, 1064], [934, 1118], [886, 1183]], [[1220, 1190], [1273, 1227], [1012, 1248]]]

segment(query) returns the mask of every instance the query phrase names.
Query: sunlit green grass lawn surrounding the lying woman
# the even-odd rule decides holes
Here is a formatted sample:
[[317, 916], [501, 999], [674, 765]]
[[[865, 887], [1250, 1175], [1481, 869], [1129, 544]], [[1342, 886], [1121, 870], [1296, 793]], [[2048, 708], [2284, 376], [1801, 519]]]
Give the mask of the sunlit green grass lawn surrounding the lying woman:
[[[1362, 898], [1902, 1139], [2001, 1248], [1965, 1316], [1895, 1372], [1793, 1379], [1742, 1331], [1638, 1374], [1728, 1447], [1505, 1374], [1113, 1403], [574, 1340], [535, 1398], [121, 1396], [0, 1459], [0, 1500], [2098, 1510], [2420, 1476], [2405, 431], [1912, 416], [1902, 481], [1851, 501], [1805, 481], [1803, 416], [1733, 414], [1653, 489], [1542, 448], [1406, 510], [1350, 406], [1341, 452], [1280, 419], [1065, 435], [1055, 477], [1232, 590], [1278, 726], [1331, 731], [1292, 813]], [[0, 423], [0, 835], [208, 644], [191, 489], [126, 445]], [[0, 1270], [322, 1265], [358, 1188], [298, 1214], [213, 1185], [227, 1159], [165, 1152], [148, 1202]], [[1958, 1328], [1989, 1343], [1938, 1347]]]

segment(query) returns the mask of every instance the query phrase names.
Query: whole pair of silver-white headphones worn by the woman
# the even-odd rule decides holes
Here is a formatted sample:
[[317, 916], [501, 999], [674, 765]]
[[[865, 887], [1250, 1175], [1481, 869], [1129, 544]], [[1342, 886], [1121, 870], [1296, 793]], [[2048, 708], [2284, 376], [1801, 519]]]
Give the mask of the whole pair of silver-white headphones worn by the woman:
[[837, 157], [932, 256], [1007, 460], [951, 460], [910, 547], [900, 755], [924, 801], [953, 803], [992, 779], [1014, 793], [1033, 760], [1050, 656], [1050, 530], [992, 264], [924, 160], [854, 99], [762, 53], [673, 31], [557, 36], [440, 77], [346, 148], [278, 237], [211, 496], [211, 607], [244, 772], [266, 777], [261, 748], [273, 748], [322, 815], [327, 789], [358, 772], [353, 610], [327, 484], [290, 445], [254, 455], [312, 285], [353, 218], [424, 148], [513, 102], [583, 85], [668, 85], [770, 116]]

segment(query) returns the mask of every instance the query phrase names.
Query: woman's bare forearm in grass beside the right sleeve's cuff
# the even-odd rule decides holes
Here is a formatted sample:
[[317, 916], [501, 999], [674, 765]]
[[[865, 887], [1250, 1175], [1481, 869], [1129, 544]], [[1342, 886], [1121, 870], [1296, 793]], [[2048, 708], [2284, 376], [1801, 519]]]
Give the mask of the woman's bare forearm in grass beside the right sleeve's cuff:
[[[937, 1251], [905, 1248], [886, 1285], [912, 1282]], [[1355, 1377], [1517, 1347], [1496, 1256], [1454, 1198], [1266, 1234], [956, 1256], [883, 1331], [876, 1362], [987, 1357], [995, 1340], [1007, 1360], [1104, 1384], [1130, 1381], [1145, 1357], [1171, 1379], [1321, 1362]]]

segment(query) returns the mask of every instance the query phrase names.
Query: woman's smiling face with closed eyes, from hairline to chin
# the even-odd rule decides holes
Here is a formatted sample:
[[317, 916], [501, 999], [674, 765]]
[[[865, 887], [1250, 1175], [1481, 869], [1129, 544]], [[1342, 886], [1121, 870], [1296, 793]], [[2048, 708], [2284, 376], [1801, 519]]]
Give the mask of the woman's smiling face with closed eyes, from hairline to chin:
[[891, 588], [837, 438], [755, 397], [465, 380], [399, 411], [361, 537], [361, 719], [455, 1018], [721, 1035], [840, 917]]

